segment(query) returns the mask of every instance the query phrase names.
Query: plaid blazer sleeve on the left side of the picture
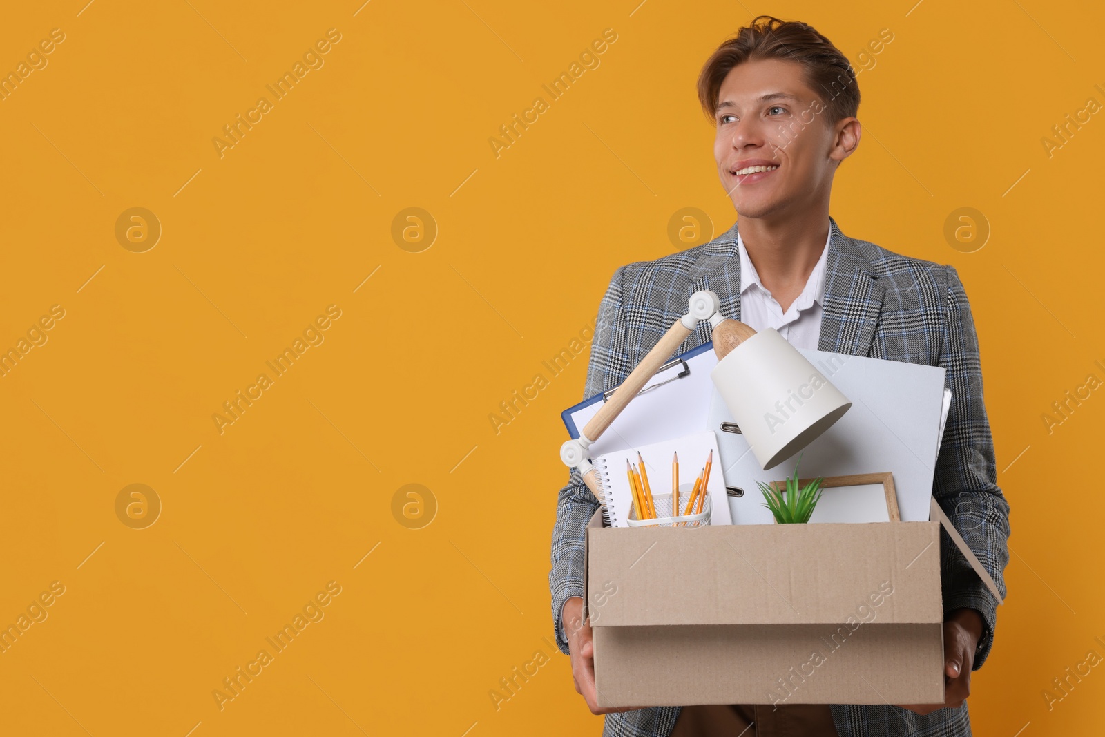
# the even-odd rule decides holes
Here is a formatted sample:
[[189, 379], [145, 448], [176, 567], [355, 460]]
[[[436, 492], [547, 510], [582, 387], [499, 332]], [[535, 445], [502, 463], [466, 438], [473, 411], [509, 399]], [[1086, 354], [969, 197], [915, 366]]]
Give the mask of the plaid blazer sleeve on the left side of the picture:
[[[621, 329], [621, 283], [625, 267], [614, 272], [602, 301], [599, 303], [591, 355], [587, 366], [583, 399], [604, 391], [604, 382], [614, 359], [614, 335]], [[549, 570], [549, 591], [552, 594], [552, 625], [556, 643], [564, 654], [568, 652], [562, 614], [564, 604], [571, 597], [583, 598], [583, 539], [587, 523], [599, 508], [599, 501], [583, 483], [579, 471], [571, 470], [568, 484], [557, 497], [556, 524], [552, 527], [552, 567]]]

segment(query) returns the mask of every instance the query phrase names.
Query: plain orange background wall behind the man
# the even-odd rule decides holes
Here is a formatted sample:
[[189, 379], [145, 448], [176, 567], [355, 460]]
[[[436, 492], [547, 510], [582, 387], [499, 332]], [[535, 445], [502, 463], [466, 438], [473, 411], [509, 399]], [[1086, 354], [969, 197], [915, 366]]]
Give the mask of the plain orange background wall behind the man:
[[[590, 326], [614, 269], [693, 244], [669, 240], [673, 213], [732, 225], [694, 82], [760, 12], [812, 23], [863, 70], [843, 231], [954, 264], [975, 310], [1012, 506], [975, 729], [1097, 724], [1101, 668], [1050, 709], [1043, 692], [1105, 655], [1105, 122], [1050, 157], [1041, 139], [1105, 103], [1101, 8], [281, 4], [50, 1], [0, 24], [0, 71], [64, 33], [0, 102], [0, 348], [64, 309], [0, 378], [0, 623], [64, 586], [0, 654], [0, 731], [598, 734], [547, 640], [559, 412], [586, 354], [497, 432], [490, 415]], [[323, 66], [220, 157], [212, 138], [332, 28]], [[608, 28], [600, 65], [496, 158], [488, 138]], [[893, 41], [861, 57], [883, 29]], [[115, 234], [135, 207], [161, 228], [141, 253]], [[411, 207], [435, 223], [429, 248], [392, 236]], [[988, 223], [981, 249], [945, 236], [964, 207]], [[329, 305], [323, 343], [220, 433], [212, 414]], [[128, 517], [126, 499], [117, 513], [130, 484], [159, 501], [154, 524], [125, 524], [151, 508]], [[393, 504], [407, 484], [421, 507]], [[330, 581], [340, 593], [309, 609], [324, 618], [220, 709], [223, 678]]]

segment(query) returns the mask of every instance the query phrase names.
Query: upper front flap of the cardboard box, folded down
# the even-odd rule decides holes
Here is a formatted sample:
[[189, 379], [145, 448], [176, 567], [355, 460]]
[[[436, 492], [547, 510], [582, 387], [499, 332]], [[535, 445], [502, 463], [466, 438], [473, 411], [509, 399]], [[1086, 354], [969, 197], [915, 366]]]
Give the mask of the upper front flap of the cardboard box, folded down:
[[944, 621], [936, 522], [590, 528], [588, 544], [592, 627]]

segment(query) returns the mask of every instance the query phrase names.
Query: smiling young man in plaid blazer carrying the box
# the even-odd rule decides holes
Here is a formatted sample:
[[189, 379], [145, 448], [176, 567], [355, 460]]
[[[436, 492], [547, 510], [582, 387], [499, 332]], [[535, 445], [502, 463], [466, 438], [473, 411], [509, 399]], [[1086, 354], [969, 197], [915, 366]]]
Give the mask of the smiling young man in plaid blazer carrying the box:
[[[953, 391], [933, 494], [1004, 596], [1009, 505], [993, 444], [971, 309], [956, 270], [844, 235], [829, 215], [833, 176], [860, 143], [848, 59], [813, 28], [755, 19], [698, 80], [717, 128], [714, 157], [739, 222], [687, 251], [614, 272], [599, 306], [585, 397], [620, 385], [698, 289], [722, 313], [791, 344], [946, 369]], [[705, 322], [676, 352], [707, 343]], [[583, 529], [599, 503], [573, 473], [552, 531], [552, 617], [576, 689], [594, 714], [591, 629], [582, 620]], [[970, 673], [989, 654], [997, 601], [941, 535], [947, 702], [928, 705], [641, 707], [604, 735], [969, 735]], [[785, 720], [785, 722], [783, 722]], [[786, 727], [783, 727], [786, 724]]]

